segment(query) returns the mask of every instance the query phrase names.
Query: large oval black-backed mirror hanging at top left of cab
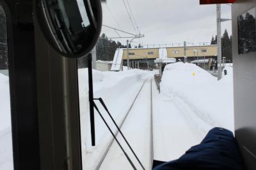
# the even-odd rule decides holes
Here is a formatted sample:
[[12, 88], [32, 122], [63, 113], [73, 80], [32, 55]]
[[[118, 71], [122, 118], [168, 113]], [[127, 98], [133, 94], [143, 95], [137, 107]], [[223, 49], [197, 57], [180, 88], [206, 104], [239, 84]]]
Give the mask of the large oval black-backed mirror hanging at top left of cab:
[[88, 54], [100, 35], [100, 0], [36, 0], [35, 15], [42, 33], [61, 56]]

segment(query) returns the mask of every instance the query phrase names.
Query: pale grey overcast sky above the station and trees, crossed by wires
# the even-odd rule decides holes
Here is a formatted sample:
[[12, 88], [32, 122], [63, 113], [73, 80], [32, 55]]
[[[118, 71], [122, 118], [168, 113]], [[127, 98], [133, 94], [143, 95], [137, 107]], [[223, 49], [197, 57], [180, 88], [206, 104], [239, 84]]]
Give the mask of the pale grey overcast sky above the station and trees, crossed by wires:
[[[216, 5], [199, 5], [199, 0], [124, 0], [129, 2], [138, 25], [143, 44], [210, 42], [216, 35]], [[129, 6], [127, 5], [129, 9]], [[102, 4], [103, 24], [129, 33], [134, 31], [123, 0], [107, 0]], [[231, 18], [231, 6], [221, 5], [221, 17]], [[133, 20], [134, 22], [134, 20]], [[231, 21], [223, 22], [222, 31], [232, 33]], [[102, 27], [108, 37], [118, 36], [115, 31]], [[127, 36], [120, 33], [121, 36]], [[116, 39], [125, 43], [126, 39]], [[138, 45], [140, 40], [134, 40]]]

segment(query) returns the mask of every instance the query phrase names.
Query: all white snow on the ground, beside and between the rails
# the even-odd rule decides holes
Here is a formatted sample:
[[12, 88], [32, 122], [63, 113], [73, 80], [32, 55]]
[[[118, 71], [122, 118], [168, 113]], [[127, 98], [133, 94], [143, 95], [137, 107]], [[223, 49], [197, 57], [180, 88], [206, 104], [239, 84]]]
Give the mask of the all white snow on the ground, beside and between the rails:
[[[179, 158], [191, 146], [200, 143], [212, 127], [234, 131], [232, 66], [226, 69], [228, 75], [217, 81], [216, 77], [196, 65], [173, 63], [167, 65], [163, 72], [161, 93], [157, 91], [156, 84], [152, 83], [154, 159], [168, 161]], [[111, 135], [95, 111], [97, 146], [91, 146], [87, 71], [86, 68], [79, 70], [79, 98], [83, 168], [90, 170], [95, 169], [99, 163], [111, 141]], [[103, 98], [116, 122], [120, 124], [143, 82], [152, 78], [154, 73], [137, 69], [125, 69], [124, 72], [93, 70], [94, 95]], [[147, 82], [122, 128], [134, 151], [142, 157], [145, 167], [149, 166], [150, 154], [150, 114], [147, 113], [150, 109], [149, 94]], [[97, 105], [116, 132], [103, 107], [99, 103]], [[9, 83], [8, 77], [1, 73], [0, 108], [0, 169], [10, 170], [13, 165]], [[146, 138], [148, 143], [141, 143]], [[113, 146], [101, 169], [131, 169], [120, 148], [116, 147], [116, 143]]]

